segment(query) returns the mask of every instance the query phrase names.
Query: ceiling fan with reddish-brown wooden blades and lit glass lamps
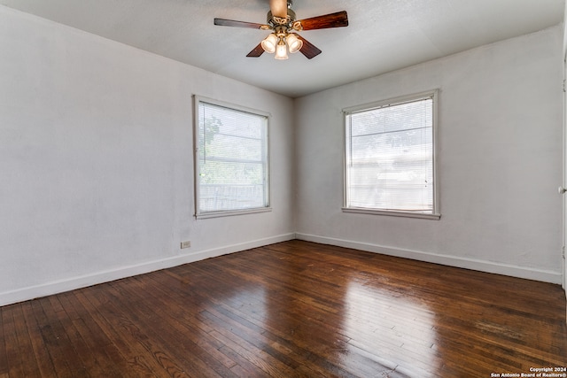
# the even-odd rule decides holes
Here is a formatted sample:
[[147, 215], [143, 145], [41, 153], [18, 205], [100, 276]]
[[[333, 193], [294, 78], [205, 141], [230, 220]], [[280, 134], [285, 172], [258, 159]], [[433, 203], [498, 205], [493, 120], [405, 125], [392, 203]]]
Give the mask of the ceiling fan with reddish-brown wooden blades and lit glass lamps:
[[269, 12], [266, 24], [235, 21], [232, 19], [214, 19], [214, 25], [223, 27], [247, 27], [271, 30], [272, 33], [258, 44], [246, 57], [258, 58], [264, 53], [276, 53], [276, 59], [287, 59], [287, 51], [300, 51], [306, 58], [315, 58], [321, 54], [314, 44], [295, 32], [302, 30], [325, 29], [329, 27], [347, 27], [346, 11], [325, 14], [310, 19], [296, 20], [291, 10], [291, 0], [269, 0]]

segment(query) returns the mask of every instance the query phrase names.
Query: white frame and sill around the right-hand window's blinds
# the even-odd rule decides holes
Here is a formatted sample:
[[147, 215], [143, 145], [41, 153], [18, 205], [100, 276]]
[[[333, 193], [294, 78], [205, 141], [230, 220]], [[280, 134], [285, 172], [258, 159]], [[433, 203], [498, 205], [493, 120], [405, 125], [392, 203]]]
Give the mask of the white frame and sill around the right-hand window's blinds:
[[[353, 207], [349, 206], [349, 198], [348, 198], [348, 157], [347, 154], [347, 145], [346, 143], [350, 143], [348, 140], [348, 116], [350, 114], [356, 112], [366, 112], [371, 111], [373, 109], [383, 108], [386, 106], [392, 106], [396, 104], [404, 104], [409, 103], [412, 101], [418, 101], [423, 98], [431, 97], [432, 99], [432, 116], [433, 116], [433, 123], [432, 123], [432, 158], [433, 158], [433, 208], [431, 212], [408, 212], [408, 211], [399, 211], [399, 210], [385, 210], [385, 209], [374, 209], [374, 208], [366, 208], [366, 207]], [[345, 166], [344, 166], [344, 204], [342, 207], [343, 212], [354, 212], [354, 213], [364, 213], [364, 214], [374, 214], [374, 215], [389, 215], [389, 216], [397, 216], [397, 217], [408, 217], [408, 218], [420, 218], [420, 219], [429, 219], [429, 220], [439, 220], [441, 218], [441, 214], [439, 212], [439, 174], [437, 169], [437, 160], [438, 160], [438, 152], [437, 152], [437, 144], [438, 144], [438, 136], [437, 130], [439, 128], [439, 118], [438, 118], [438, 103], [439, 103], [439, 89], [434, 89], [426, 92], [416, 93], [408, 96], [399, 96], [395, 98], [386, 99], [383, 101], [377, 101], [370, 104], [361, 104], [349, 108], [343, 109], [344, 121], [345, 121]]]

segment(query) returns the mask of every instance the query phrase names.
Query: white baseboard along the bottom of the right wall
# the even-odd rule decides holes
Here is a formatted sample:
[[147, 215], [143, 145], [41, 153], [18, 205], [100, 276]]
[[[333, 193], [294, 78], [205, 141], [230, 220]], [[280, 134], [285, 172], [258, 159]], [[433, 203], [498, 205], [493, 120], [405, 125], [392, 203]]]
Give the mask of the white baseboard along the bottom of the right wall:
[[397, 248], [384, 247], [382, 245], [372, 243], [353, 242], [350, 240], [336, 239], [333, 237], [320, 235], [296, 233], [296, 238], [299, 240], [305, 240], [307, 242], [336, 245], [338, 247], [352, 248], [353, 250], [381, 253], [384, 255], [395, 256], [399, 258], [411, 258], [434, 264], [462, 267], [465, 269], [478, 270], [486, 273], [509, 275], [511, 277], [524, 278], [527, 280], [551, 282], [560, 285], [563, 282], [563, 274], [559, 272], [552, 272], [541, 269], [529, 269], [524, 266], [501, 264], [474, 258], [459, 258], [423, 251], [400, 250]]

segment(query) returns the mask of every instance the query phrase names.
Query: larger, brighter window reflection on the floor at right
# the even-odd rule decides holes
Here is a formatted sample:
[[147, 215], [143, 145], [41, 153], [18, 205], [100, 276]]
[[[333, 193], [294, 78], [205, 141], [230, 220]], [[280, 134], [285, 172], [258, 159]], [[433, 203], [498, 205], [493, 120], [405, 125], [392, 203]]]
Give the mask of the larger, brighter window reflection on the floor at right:
[[434, 312], [414, 297], [372, 282], [349, 282], [345, 329], [349, 351], [408, 376], [430, 377], [439, 367]]

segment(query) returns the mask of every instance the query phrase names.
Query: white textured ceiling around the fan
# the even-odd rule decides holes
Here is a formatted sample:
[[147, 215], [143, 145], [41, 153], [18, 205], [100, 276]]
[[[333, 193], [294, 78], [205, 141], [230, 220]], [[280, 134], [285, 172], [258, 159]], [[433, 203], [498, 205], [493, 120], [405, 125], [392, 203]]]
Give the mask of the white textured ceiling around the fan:
[[349, 26], [300, 33], [322, 54], [283, 61], [245, 57], [268, 32], [213, 24], [215, 17], [264, 23], [268, 0], [0, 4], [296, 97], [554, 26], [564, 0], [295, 0], [298, 19], [345, 10]]

